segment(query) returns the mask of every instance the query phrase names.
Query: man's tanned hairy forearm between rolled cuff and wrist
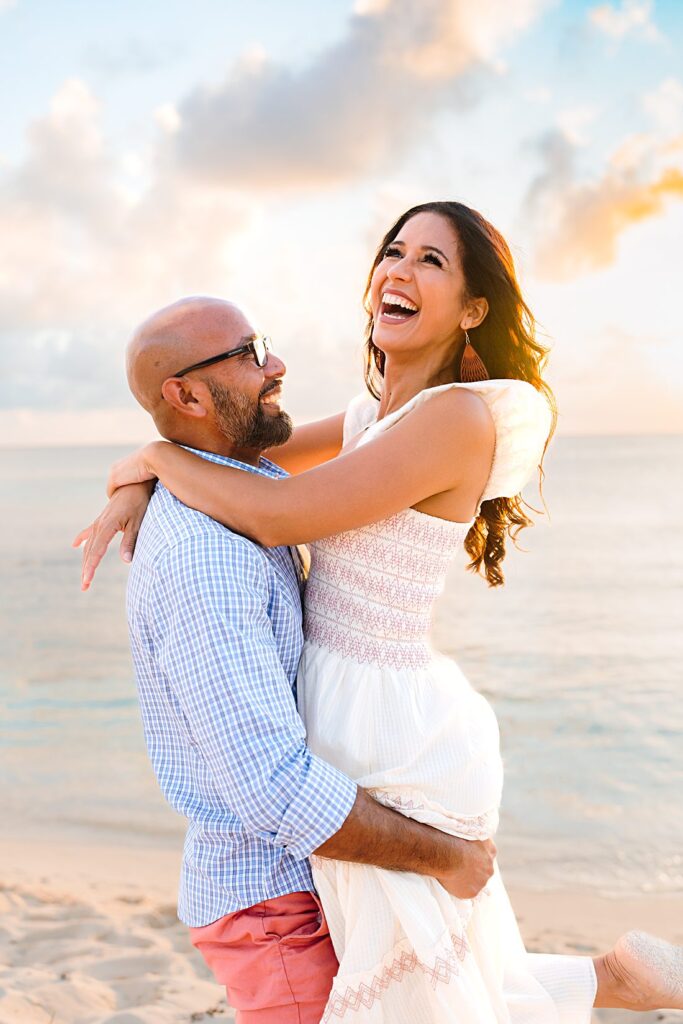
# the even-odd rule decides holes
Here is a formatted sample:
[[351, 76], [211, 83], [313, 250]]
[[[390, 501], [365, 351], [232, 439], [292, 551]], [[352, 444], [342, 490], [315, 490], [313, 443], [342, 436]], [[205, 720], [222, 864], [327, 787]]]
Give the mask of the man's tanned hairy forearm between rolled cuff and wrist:
[[462, 865], [466, 842], [384, 807], [358, 786], [344, 824], [315, 854], [438, 877]]

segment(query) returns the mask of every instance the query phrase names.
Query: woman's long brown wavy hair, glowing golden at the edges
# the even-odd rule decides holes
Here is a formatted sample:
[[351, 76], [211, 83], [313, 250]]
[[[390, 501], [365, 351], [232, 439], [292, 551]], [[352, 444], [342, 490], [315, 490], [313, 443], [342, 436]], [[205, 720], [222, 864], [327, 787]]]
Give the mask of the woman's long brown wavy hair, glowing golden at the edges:
[[[373, 342], [375, 322], [370, 304], [372, 278], [387, 246], [394, 241], [403, 224], [419, 213], [434, 213], [449, 221], [458, 239], [465, 279], [465, 299], [485, 298], [488, 302], [486, 316], [478, 327], [469, 332], [469, 336], [492, 379], [528, 381], [545, 395], [553, 414], [550, 434], [544, 449], [545, 456], [557, 422], [555, 396], [542, 376], [548, 359], [548, 349], [537, 338], [536, 319], [522, 298], [507, 242], [480, 213], [462, 203], [438, 202], [414, 206], [398, 218], [380, 243], [364, 295], [364, 306], [368, 313], [366, 384], [370, 393], [379, 399], [385, 364], [384, 352]], [[463, 337], [454, 351], [454, 381], [460, 380], [460, 357], [464, 344]], [[543, 482], [543, 460], [539, 470]], [[484, 577], [489, 587], [500, 587], [505, 582], [501, 565], [505, 558], [508, 536], [514, 543], [521, 529], [532, 525], [525, 509], [530, 509], [530, 506], [523, 501], [521, 495], [482, 502], [479, 514], [465, 539], [465, 550], [470, 557], [467, 568]]]

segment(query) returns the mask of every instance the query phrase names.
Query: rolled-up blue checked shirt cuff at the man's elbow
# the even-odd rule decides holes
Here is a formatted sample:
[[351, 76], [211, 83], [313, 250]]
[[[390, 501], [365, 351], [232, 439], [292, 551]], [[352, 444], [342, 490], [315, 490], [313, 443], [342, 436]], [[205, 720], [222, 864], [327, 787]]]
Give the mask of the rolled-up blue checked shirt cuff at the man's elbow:
[[303, 783], [287, 808], [274, 838], [295, 860], [303, 860], [338, 833], [348, 817], [356, 783], [327, 761], [309, 754]]

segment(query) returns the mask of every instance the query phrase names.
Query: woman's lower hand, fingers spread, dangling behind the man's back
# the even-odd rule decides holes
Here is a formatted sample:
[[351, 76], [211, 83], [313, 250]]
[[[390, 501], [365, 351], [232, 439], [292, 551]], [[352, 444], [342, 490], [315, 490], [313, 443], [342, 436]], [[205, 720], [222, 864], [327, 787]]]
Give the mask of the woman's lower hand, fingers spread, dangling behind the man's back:
[[85, 542], [81, 568], [81, 590], [88, 590], [90, 587], [95, 569], [119, 532], [123, 532], [121, 557], [124, 562], [131, 561], [140, 523], [150, 504], [155, 482], [155, 480], [148, 480], [145, 483], [131, 483], [120, 487], [94, 522], [91, 522], [74, 538], [73, 546], [75, 548], [80, 548]]

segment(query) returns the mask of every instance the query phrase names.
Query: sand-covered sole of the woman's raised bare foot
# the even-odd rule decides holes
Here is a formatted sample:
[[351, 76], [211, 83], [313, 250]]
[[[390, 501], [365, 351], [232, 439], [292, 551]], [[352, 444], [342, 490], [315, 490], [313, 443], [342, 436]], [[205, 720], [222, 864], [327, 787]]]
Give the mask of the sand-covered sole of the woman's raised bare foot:
[[642, 998], [643, 1010], [683, 1010], [683, 946], [646, 932], [627, 932], [614, 954]]

